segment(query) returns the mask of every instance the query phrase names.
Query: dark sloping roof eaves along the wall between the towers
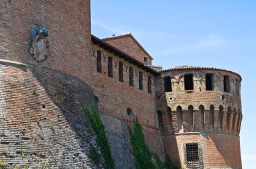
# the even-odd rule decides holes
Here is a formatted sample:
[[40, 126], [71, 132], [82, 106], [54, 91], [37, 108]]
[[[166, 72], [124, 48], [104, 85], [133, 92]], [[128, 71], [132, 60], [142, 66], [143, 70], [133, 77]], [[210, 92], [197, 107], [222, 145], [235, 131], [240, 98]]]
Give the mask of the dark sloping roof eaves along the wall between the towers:
[[134, 64], [138, 66], [139, 68], [146, 70], [146, 72], [150, 72], [154, 75], [160, 75], [160, 73], [153, 68], [150, 68], [150, 66], [147, 66], [146, 64], [143, 64], [142, 62], [139, 62], [139, 60], [136, 60], [135, 58], [129, 56], [125, 52], [115, 48], [114, 46], [108, 44], [107, 42], [104, 42], [104, 40], [101, 40], [100, 38], [97, 38], [96, 36], [92, 35], [92, 43], [99, 45], [101, 48], [104, 48], [104, 50], [108, 50], [108, 52], [113, 53], [115, 56], [119, 56], [119, 58], [123, 58], [130, 62], [131, 64]]

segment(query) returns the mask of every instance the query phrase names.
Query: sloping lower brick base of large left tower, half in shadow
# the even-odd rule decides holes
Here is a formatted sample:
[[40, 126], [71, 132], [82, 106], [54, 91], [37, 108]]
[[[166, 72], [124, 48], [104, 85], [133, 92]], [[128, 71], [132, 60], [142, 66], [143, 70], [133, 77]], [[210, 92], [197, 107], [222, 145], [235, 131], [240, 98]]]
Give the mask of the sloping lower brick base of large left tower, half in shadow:
[[92, 166], [89, 143], [96, 143], [82, 111], [94, 103], [92, 89], [48, 68], [0, 64], [1, 160], [36, 168]]

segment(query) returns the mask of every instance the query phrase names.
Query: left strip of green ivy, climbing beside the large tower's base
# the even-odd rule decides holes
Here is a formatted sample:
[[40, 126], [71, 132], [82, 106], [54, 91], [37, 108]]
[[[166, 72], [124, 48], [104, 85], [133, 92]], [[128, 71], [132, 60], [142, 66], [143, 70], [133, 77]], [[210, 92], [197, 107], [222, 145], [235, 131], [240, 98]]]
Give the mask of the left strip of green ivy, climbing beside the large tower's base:
[[100, 115], [94, 106], [91, 108], [84, 106], [83, 109], [84, 113], [86, 113], [87, 121], [90, 122], [92, 129], [94, 129], [94, 132], [96, 133], [96, 143], [100, 146], [100, 152], [104, 158], [104, 168], [115, 168], [115, 162], [111, 156], [108, 138], [106, 137]]

